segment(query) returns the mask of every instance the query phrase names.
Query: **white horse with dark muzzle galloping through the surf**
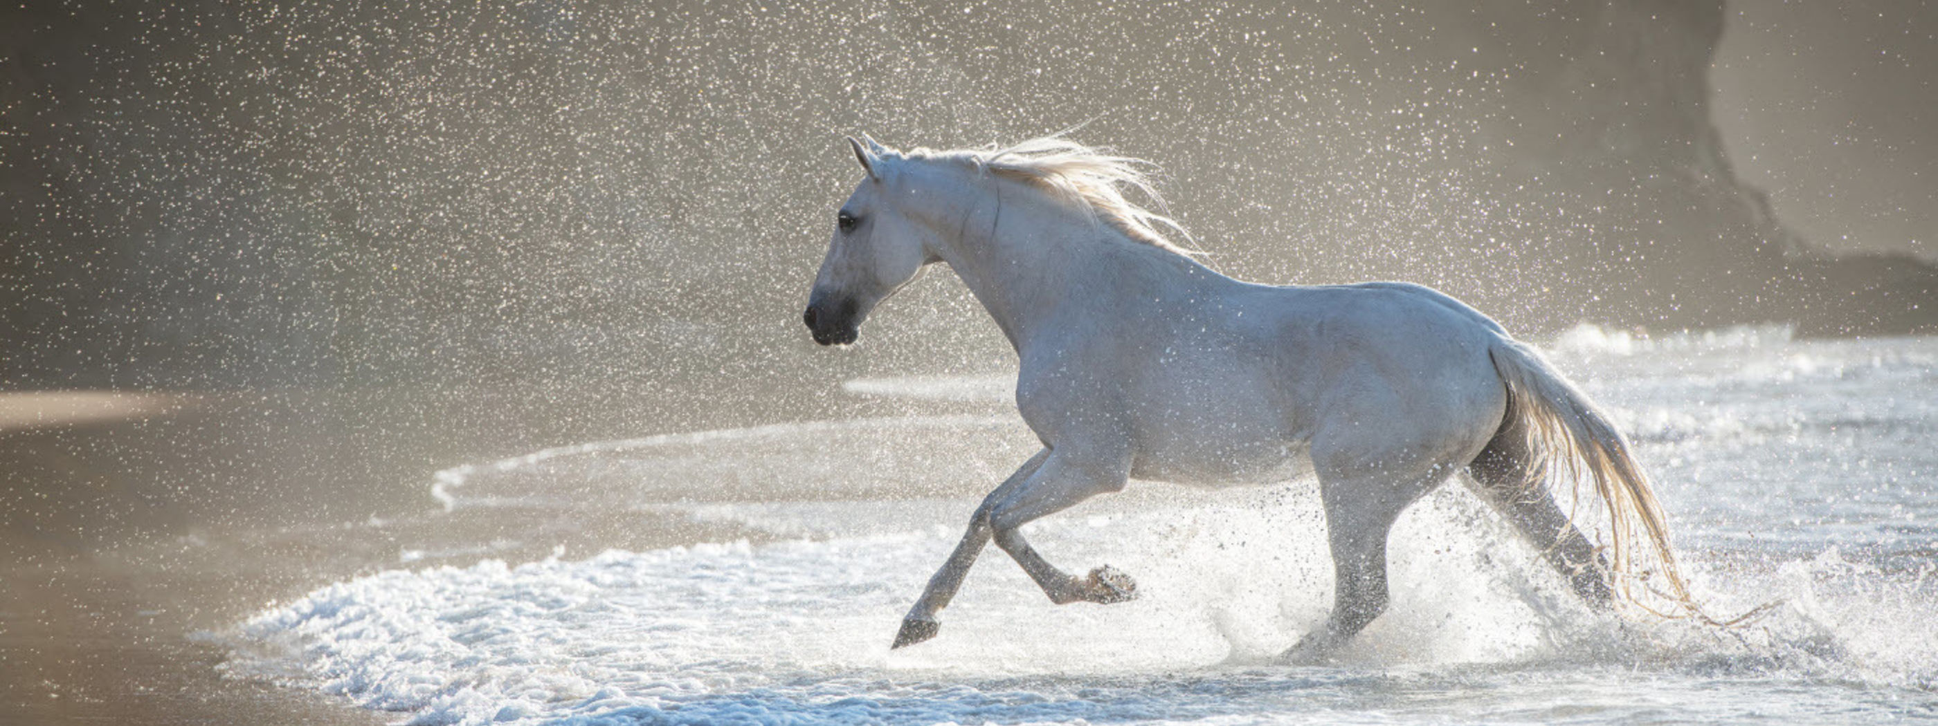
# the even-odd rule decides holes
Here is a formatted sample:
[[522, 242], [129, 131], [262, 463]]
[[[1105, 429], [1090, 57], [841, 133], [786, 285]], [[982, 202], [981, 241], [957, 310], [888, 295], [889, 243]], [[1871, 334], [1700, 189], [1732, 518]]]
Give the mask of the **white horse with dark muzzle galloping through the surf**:
[[[1622, 436], [1539, 352], [1459, 300], [1403, 283], [1219, 275], [1165, 238], [1161, 228], [1182, 234], [1176, 223], [1126, 199], [1157, 199], [1141, 163], [1068, 139], [985, 151], [849, 143], [866, 178], [814, 279], [814, 341], [853, 343], [876, 304], [948, 263], [1016, 347], [1016, 405], [1043, 439], [977, 507], [893, 647], [936, 635], [936, 614], [990, 538], [1050, 602], [1134, 598], [1124, 573], [1072, 577], [1017, 530], [1128, 478], [1318, 476], [1333, 610], [1289, 660], [1326, 656], [1386, 610], [1388, 530], [1459, 470], [1589, 604], [1641, 604], [1638, 558], [1663, 575], [1649, 590], [1688, 604], [1661, 507]], [[1609, 548], [1556, 505], [1550, 472], [1593, 482]]]

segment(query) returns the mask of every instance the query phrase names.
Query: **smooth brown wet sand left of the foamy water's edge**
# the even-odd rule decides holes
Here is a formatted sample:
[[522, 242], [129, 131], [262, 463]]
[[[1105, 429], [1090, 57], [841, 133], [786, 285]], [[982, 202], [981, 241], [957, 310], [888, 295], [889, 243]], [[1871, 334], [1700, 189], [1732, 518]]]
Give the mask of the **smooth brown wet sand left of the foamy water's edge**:
[[705, 397], [543, 387], [4, 393], [0, 724], [395, 720], [264, 674], [225, 674], [221, 633], [328, 583], [469, 565], [481, 542], [543, 542], [488, 552], [527, 561], [554, 548], [570, 558], [760, 538], [643, 513], [535, 536], [547, 525], [529, 517], [442, 513], [428, 488], [444, 467], [589, 439], [903, 410], [843, 395], [833, 379], [785, 399], [760, 385], [682, 389]]

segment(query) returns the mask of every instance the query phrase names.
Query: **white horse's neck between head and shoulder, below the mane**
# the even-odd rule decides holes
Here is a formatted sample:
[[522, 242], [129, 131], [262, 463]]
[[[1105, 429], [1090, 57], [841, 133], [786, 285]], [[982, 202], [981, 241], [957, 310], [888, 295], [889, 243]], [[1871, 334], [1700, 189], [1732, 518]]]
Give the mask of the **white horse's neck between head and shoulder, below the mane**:
[[1017, 354], [1033, 341], [1066, 339], [1070, 327], [1095, 327], [1099, 316], [1122, 316], [1126, 304], [1163, 298], [1151, 294], [1153, 285], [1188, 283], [1192, 275], [1178, 271], [1198, 267], [1035, 188], [1000, 178], [985, 184], [981, 201], [957, 209], [955, 219], [938, 219], [936, 256], [961, 277]]

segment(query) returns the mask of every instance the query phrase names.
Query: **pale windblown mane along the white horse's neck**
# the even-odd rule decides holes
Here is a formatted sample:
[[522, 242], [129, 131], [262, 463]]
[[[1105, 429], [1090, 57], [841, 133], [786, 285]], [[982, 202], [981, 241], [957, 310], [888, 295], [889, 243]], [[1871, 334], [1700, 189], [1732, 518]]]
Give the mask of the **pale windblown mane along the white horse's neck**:
[[[1134, 242], [1180, 256], [1198, 254], [1194, 246], [1176, 244], [1165, 234], [1169, 230], [1194, 242], [1184, 225], [1169, 215], [1165, 197], [1157, 194], [1151, 178], [1157, 165], [1149, 161], [1120, 157], [1109, 149], [1089, 147], [1054, 134], [1010, 147], [913, 149], [907, 155], [911, 159], [950, 159], [981, 172], [1029, 184], [1074, 203], [1091, 221], [1109, 225]], [[1143, 196], [1157, 209], [1132, 201], [1126, 192]]]

